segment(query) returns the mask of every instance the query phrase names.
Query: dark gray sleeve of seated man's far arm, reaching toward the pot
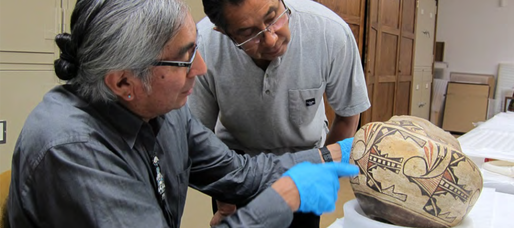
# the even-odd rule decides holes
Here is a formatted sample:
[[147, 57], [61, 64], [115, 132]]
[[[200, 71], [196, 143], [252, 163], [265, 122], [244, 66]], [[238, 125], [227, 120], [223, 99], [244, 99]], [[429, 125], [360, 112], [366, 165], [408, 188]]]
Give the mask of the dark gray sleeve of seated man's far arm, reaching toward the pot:
[[318, 149], [282, 156], [264, 153], [253, 157], [240, 155], [230, 150], [194, 117], [189, 117], [188, 125], [192, 160], [190, 186], [224, 202], [248, 202], [293, 165], [304, 161], [321, 163]]

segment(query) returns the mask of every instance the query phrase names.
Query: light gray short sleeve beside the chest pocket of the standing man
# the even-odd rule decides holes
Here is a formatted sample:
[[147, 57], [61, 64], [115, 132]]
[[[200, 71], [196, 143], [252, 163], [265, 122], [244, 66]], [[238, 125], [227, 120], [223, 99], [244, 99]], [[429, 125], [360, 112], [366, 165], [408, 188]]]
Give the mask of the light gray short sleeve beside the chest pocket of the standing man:
[[[329, 25], [327, 25], [329, 26]], [[330, 71], [326, 78], [326, 95], [330, 106], [339, 116], [353, 116], [371, 107], [359, 48], [350, 27], [337, 24], [326, 29]], [[335, 31], [340, 32], [335, 32]]]

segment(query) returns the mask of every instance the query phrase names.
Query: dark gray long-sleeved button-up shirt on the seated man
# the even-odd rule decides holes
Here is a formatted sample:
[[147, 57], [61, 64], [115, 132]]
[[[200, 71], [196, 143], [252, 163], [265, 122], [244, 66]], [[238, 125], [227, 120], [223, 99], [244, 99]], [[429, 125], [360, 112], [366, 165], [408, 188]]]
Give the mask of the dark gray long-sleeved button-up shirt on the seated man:
[[225, 202], [254, 198], [217, 227], [287, 227], [291, 210], [268, 187], [302, 161], [321, 162], [318, 150], [237, 155], [187, 106], [144, 122], [61, 85], [32, 111], [16, 143], [9, 216], [13, 227], [179, 227], [191, 186]]

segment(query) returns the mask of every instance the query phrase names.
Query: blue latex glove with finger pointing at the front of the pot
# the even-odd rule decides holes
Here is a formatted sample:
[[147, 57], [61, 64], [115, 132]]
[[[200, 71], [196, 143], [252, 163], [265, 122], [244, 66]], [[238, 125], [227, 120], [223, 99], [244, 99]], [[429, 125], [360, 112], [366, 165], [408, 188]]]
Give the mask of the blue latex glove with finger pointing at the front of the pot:
[[312, 164], [308, 162], [293, 166], [283, 176], [295, 182], [300, 193], [298, 212], [321, 215], [336, 209], [339, 178], [355, 176], [359, 168], [345, 163]]

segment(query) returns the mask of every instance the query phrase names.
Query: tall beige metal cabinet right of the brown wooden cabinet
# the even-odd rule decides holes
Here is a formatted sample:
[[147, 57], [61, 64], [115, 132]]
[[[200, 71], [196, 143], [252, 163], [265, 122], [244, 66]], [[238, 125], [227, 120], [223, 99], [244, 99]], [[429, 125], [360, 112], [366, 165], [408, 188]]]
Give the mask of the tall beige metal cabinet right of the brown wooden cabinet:
[[430, 117], [436, 12], [435, 0], [418, 1], [411, 115], [427, 120]]

